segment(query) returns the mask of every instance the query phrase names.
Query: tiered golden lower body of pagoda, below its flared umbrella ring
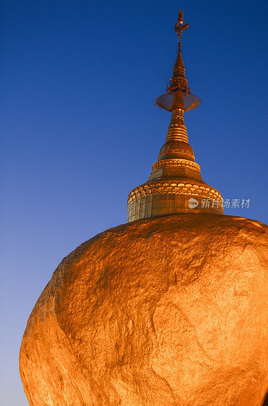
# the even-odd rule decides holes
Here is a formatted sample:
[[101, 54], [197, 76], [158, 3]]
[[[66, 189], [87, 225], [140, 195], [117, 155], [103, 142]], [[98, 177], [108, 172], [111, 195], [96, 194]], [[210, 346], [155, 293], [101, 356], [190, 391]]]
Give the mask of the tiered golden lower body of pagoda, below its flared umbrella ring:
[[128, 195], [127, 222], [182, 213], [223, 214], [223, 207], [218, 190], [207, 185], [200, 175], [188, 143], [183, 110], [174, 109], [148, 181]]

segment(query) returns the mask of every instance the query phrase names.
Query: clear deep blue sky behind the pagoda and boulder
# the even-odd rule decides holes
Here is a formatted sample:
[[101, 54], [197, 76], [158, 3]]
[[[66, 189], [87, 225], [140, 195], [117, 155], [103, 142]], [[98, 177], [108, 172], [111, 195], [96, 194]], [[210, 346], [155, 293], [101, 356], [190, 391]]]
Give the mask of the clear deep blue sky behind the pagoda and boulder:
[[126, 222], [170, 113], [164, 92], [179, 9], [185, 114], [205, 182], [251, 199], [226, 214], [268, 223], [267, 3], [4, 2], [2, 10], [1, 365], [3, 406], [26, 406], [18, 352], [28, 316], [61, 259]]

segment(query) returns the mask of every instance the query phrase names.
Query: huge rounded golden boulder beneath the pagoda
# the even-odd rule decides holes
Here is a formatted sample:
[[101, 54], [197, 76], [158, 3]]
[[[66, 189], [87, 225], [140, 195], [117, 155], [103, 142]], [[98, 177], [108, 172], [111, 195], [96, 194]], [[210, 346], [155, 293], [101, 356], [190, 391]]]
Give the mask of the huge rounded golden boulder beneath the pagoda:
[[20, 372], [33, 406], [261, 406], [268, 227], [213, 214], [124, 224], [55, 270]]

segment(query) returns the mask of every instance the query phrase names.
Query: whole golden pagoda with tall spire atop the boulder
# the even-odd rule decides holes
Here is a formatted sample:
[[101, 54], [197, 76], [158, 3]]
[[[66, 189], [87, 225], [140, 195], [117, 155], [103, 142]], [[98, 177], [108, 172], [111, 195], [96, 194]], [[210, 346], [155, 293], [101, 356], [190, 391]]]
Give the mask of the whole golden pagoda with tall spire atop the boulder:
[[222, 197], [204, 183], [200, 166], [195, 162], [188, 142], [183, 115], [200, 106], [199, 97], [190, 93], [182, 58], [183, 11], [178, 14], [177, 59], [166, 93], [156, 99], [156, 105], [172, 112], [171, 123], [158, 160], [146, 183], [131, 190], [127, 200], [127, 222], [175, 213], [223, 214]]

